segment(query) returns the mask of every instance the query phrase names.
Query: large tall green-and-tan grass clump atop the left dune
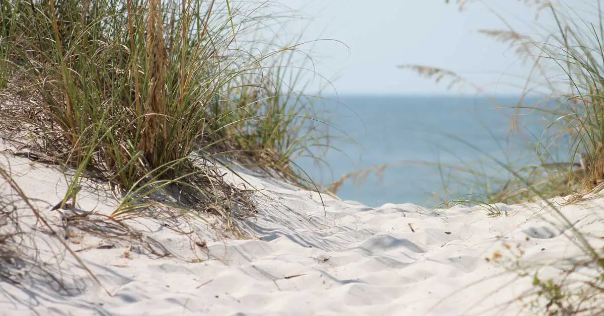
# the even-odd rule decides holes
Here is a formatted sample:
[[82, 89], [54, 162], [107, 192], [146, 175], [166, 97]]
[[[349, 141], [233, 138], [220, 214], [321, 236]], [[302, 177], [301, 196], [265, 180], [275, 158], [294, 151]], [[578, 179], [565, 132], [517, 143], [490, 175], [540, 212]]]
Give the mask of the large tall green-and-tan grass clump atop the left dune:
[[76, 168], [72, 189], [91, 171], [130, 192], [195, 176], [204, 184], [190, 187], [207, 200], [222, 180], [191, 155], [219, 152], [300, 179], [292, 158], [324, 138], [307, 136], [319, 122], [304, 85], [286, 77], [304, 71], [290, 64], [303, 44], [247, 40], [280, 22], [263, 15], [268, 5], [4, 1], [2, 128], [25, 128], [38, 149]]

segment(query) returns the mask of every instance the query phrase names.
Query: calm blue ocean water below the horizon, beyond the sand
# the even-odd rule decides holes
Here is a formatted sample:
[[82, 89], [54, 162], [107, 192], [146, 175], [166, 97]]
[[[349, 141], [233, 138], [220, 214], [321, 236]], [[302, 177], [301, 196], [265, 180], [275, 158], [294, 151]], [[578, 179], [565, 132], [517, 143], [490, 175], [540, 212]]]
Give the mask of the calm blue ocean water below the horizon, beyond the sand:
[[[315, 107], [332, 124], [330, 134], [338, 139], [330, 146], [335, 149], [324, 153], [326, 164], [308, 158], [296, 162], [321, 184], [387, 164], [381, 175], [376, 175], [377, 167], [362, 181], [345, 181], [337, 195], [372, 206], [387, 202], [435, 206], [443, 199], [483, 192], [475, 181], [455, 181], [472, 176], [454, 168], [506, 179], [509, 172], [487, 155], [510, 166], [539, 163], [535, 143], [547, 144], [551, 135], [558, 135], [547, 129], [553, 118], [515, 106], [557, 103], [537, 97], [519, 100], [516, 96], [496, 100], [442, 95], [328, 96]], [[517, 124], [512, 133], [513, 117]], [[551, 159], [570, 161], [568, 140], [557, 137], [554, 144]]]

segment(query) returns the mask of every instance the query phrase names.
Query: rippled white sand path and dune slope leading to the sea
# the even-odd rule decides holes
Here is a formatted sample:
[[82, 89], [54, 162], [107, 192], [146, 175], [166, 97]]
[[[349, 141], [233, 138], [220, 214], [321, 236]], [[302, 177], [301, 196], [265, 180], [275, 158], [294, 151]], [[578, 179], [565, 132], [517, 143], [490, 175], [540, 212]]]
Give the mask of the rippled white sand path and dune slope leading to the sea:
[[[65, 177], [54, 167], [30, 163], [0, 155], [0, 164], [10, 166], [14, 179], [42, 213], [59, 222], [60, 213], [48, 210], [62, 198]], [[520, 303], [509, 303], [531, 288], [530, 277], [513, 282], [515, 274], [502, 274], [504, 265], [509, 265], [506, 260], [500, 264], [485, 258], [494, 251], [509, 257], [503, 242], [521, 245], [524, 262], [581, 257], [569, 239], [570, 231], [537, 204], [496, 205], [504, 214], [489, 217], [481, 207], [427, 210], [385, 204], [372, 208], [323, 195], [323, 208], [317, 193], [250, 175], [246, 179], [264, 189], [255, 197], [257, 216], [244, 225], [256, 238], [219, 238], [201, 221], [190, 236], [149, 220], [131, 222], [167, 248], [159, 252], [174, 255], [160, 259], [149, 257], [137, 243], [128, 247], [127, 241], [86, 234], [70, 238], [72, 249], [84, 249], [79, 256], [109, 295], [74, 257], [61, 251], [58, 242], [38, 233], [39, 260], [56, 265], [49, 259], [51, 251], [62, 254], [62, 269], [52, 265], [48, 269], [60, 273], [71, 290], [59, 291], [48, 276], [34, 270], [21, 285], [0, 283], [0, 313], [514, 315], [520, 311], [533, 315], [521, 310]], [[14, 198], [9, 193], [7, 184], [0, 182], [0, 194]], [[77, 207], [109, 214], [116, 204], [111, 194], [84, 185]], [[604, 236], [598, 215], [602, 205], [604, 199], [596, 198], [562, 208], [598, 247], [602, 246], [599, 237]], [[22, 214], [30, 213], [24, 209]], [[22, 221], [32, 223], [31, 217]], [[197, 239], [192, 242], [191, 236]], [[207, 249], [196, 247], [194, 240], [207, 242]], [[202, 261], [185, 260], [195, 256]], [[543, 272], [543, 276], [556, 274], [555, 269]]]

